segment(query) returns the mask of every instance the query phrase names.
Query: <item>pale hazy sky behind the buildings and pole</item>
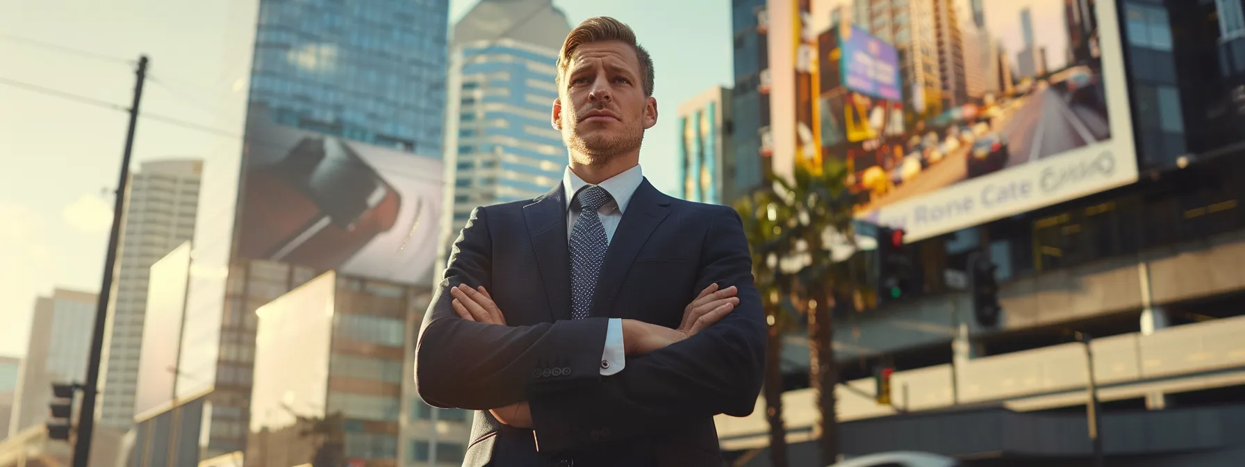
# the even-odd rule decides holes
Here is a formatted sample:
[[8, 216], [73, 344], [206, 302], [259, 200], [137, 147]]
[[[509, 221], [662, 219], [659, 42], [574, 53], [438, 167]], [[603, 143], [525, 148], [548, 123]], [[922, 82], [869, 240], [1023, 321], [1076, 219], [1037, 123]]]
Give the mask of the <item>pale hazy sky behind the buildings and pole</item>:
[[[451, 21], [476, 0], [451, 0]], [[641, 164], [674, 193], [675, 108], [732, 80], [726, 0], [554, 0], [573, 24], [627, 22], [654, 60], [657, 126]], [[30, 313], [54, 288], [98, 291], [121, 164], [133, 65], [151, 57], [133, 168], [204, 158], [238, 146], [256, 0], [63, 0], [0, 2], [0, 355], [27, 346]], [[452, 24], [452, 22], [451, 22]], [[37, 44], [32, 44], [36, 41]], [[68, 49], [66, 51], [62, 49]], [[81, 54], [86, 51], [88, 54]], [[82, 96], [95, 103], [31, 92]]]

